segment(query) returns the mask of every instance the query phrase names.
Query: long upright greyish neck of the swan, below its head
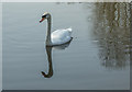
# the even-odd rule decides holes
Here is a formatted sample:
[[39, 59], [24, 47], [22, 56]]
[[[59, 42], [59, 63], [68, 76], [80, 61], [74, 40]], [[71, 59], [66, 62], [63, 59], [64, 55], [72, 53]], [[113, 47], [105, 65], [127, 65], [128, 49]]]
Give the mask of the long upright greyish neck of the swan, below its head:
[[46, 35], [46, 45], [52, 46], [52, 41], [51, 41], [51, 16], [47, 19], [47, 35]]

